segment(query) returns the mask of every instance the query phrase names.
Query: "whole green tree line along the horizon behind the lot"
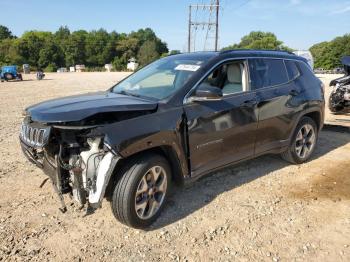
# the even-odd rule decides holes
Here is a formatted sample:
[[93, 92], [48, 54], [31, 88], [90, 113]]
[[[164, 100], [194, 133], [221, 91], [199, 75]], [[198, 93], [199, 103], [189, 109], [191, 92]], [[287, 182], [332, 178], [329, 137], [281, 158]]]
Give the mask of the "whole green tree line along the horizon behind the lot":
[[[274, 33], [262, 31], [252, 31], [239, 43], [223, 48], [229, 49], [293, 51]], [[350, 55], [350, 34], [315, 44], [310, 51], [315, 68], [340, 67], [341, 57]], [[112, 63], [115, 70], [125, 70], [130, 58], [136, 58], [143, 66], [164, 55], [179, 52], [173, 50], [169, 53], [167, 44], [150, 28], [126, 34], [108, 33], [104, 29], [71, 32], [68, 27], [62, 26], [54, 33], [28, 31], [16, 37], [7, 27], [0, 25], [0, 65], [30, 64], [33, 69], [55, 71], [77, 64], [100, 70], [105, 64]]]

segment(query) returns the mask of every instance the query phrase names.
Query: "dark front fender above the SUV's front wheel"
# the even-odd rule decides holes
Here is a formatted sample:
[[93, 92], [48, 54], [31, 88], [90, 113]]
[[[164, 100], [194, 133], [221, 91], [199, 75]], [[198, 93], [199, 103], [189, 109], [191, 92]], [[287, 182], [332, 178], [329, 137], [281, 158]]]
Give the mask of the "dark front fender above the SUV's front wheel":
[[156, 147], [171, 147], [186, 175], [184, 121], [183, 108], [177, 107], [97, 127], [95, 131], [103, 134], [104, 143], [123, 158]]

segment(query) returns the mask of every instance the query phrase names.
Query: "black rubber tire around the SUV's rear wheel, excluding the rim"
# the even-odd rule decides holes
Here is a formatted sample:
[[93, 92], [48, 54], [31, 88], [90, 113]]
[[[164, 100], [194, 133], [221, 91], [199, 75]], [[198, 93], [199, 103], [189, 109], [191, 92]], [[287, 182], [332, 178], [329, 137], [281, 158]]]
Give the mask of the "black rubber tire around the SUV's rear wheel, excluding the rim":
[[[308, 153], [305, 157], [301, 157], [299, 152], [297, 152], [297, 142], [299, 141], [299, 140], [297, 140], [297, 136], [298, 136], [299, 132], [302, 131], [301, 129], [305, 126], [312, 127], [312, 129], [313, 129], [312, 132], [314, 133], [315, 138], [314, 138], [314, 144], [313, 144], [312, 148], [310, 148], [310, 151], [308, 151]], [[294, 130], [294, 133], [293, 133], [293, 136], [292, 136], [292, 139], [291, 139], [291, 142], [289, 144], [288, 149], [281, 154], [282, 158], [284, 160], [292, 163], [292, 164], [302, 164], [302, 163], [306, 162], [307, 160], [310, 159], [310, 157], [312, 156], [312, 153], [315, 150], [317, 139], [318, 139], [318, 130], [317, 130], [317, 125], [316, 125], [315, 121], [312, 118], [307, 117], [307, 116], [302, 117]], [[306, 140], [306, 139], [304, 138], [303, 140]]]

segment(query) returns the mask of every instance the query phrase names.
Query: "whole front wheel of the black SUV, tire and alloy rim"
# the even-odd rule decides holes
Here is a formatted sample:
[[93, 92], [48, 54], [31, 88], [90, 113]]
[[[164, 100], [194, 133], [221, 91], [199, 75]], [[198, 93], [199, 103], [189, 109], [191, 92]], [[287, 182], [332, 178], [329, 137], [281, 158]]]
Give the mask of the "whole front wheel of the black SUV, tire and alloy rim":
[[156, 154], [137, 157], [119, 175], [111, 202], [114, 216], [134, 228], [150, 226], [168, 197], [171, 182], [168, 161]]

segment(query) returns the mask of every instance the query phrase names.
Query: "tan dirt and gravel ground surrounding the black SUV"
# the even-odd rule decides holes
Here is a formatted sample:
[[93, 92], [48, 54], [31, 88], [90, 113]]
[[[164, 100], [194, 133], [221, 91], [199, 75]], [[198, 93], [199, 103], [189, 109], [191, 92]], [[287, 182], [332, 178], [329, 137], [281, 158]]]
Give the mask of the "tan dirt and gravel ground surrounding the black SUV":
[[[177, 188], [147, 231], [121, 225], [108, 202], [84, 217], [67, 198], [62, 214], [49, 183], [39, 188], [45, 175], [21, 153], [22, 110], [104, 90], [124, 76], [65, 73], [36, 81], [25, 75], [23, 82], [0, 83], [0, 261], [350, 261], [345, 127], [327, 126], [306, 164], [264, 156]], [[331, 124], [349, 119], [327, 114]]]

